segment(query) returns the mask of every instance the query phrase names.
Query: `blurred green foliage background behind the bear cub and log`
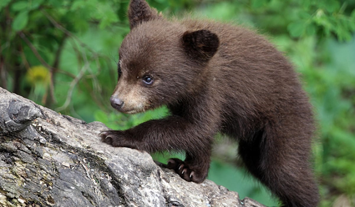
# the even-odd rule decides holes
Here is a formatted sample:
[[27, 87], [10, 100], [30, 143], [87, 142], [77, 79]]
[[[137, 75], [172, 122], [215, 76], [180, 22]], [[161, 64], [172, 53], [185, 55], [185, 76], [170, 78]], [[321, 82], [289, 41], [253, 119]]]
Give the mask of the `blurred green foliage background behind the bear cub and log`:
[[[110, 108], [118, 48], [129, 32], [128, 3], [1, 0], [0, 86], [62, 114], [102, 121], [113, 129], [164, 116], [165, 108], [137, 115]], [[300, 72], [319, 122], [314, 160], [320, 206], [355, 206], [354, 0], [150, 0], [149, 4], [167, 17], [192, 13], [254, 28], [284, 51]], [[217, 145], [229, 146], [220, 137]], [[241, 197], [277, 205], [266, 189], [233, 167], [231, 163], [238, 163], [235, 149], [224, 147], [220, 153], [216, 148], [209, 179]]]

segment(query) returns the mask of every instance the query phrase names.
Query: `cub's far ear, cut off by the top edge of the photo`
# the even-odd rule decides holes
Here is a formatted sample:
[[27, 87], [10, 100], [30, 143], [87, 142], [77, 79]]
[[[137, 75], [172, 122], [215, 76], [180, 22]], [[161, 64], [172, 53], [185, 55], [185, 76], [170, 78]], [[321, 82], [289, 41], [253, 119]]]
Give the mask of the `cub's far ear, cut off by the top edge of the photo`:
[[130, 20], [131, 29], [142, 22], [147, 22], [159, 17], [161, 16], [158, 15], [158, 11], [149, 7], [145, 0], [131, 0], [128, 7], [128, 18]]

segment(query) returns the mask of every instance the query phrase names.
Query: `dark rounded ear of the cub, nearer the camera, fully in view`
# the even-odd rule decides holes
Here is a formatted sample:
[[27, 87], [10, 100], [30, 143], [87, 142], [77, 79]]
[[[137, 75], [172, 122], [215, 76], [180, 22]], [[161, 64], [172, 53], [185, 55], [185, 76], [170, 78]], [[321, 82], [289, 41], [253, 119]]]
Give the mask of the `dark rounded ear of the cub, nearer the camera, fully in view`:
[[186, 53], [193, 59], [207, 62], [217, 52], [219, 38], [207, 29], [185, 32], [182, 41]]

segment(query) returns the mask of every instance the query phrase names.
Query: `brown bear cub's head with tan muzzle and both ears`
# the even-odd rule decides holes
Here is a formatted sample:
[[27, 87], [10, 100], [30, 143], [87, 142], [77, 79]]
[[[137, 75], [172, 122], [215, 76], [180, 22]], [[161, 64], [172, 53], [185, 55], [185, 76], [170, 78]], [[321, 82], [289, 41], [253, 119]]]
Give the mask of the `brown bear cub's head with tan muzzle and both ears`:
[[112, 107], [140, 113], [196, 91], [198, 79], [218, 50], [218, 36], [207, 29], [190, 31], [179, 22], [170, 22], [144, 0], [131, 0], [128, 16], [131, 31], [119, 51]]

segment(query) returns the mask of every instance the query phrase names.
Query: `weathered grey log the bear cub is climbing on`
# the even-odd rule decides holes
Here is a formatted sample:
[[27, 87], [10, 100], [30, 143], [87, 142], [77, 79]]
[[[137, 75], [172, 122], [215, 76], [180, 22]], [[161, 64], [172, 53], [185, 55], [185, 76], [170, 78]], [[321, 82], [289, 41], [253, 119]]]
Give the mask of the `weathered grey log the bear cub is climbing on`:
[[107, 129], [0, 88], [0, 206], [263, 206], [106, 145], [98, 134]]

